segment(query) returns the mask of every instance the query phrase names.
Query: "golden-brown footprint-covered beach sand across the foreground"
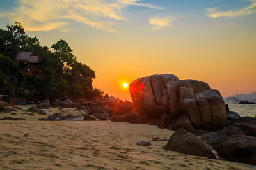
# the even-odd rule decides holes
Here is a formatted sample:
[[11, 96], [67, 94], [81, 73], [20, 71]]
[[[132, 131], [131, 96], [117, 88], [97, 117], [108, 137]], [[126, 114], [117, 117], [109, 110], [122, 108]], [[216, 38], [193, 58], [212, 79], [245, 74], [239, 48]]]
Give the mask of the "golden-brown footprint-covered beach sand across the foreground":
[[[48, 110], [54, 113], [58, 108]], [[15, 113], [19, 117], [21, 112]], [[256, 169], [248, 164], [166, 151], [166, 141], [136, 145], [157, 136], [168, 139], [174, 132], [154, 125], [35, 120], [0, 124], [1, 169]]]

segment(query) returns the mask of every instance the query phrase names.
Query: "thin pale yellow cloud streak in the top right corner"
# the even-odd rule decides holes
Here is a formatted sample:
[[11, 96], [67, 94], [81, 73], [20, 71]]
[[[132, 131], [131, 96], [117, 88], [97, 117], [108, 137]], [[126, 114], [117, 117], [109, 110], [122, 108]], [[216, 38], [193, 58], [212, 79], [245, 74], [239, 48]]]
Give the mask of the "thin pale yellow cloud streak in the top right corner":
[[208, 11], [206, 14], [209, 17], [212, 18], [218, 18], [218, 17], [238, 17], [238, 16], [244, 16], [244, 15], [250, 15], [252, 13], [256, 12], [256, 0], [250, 0], [252, 3], [249, 6], [246, 6], [242, 8], [241, 10], [237, 11], [217, 11], [218, 8], [207, 8], [205, 10]]

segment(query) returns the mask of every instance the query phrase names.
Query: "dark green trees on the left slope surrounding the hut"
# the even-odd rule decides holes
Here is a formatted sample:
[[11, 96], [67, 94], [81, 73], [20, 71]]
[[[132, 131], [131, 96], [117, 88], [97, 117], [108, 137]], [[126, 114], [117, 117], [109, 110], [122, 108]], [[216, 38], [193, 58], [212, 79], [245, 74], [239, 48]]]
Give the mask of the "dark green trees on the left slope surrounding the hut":
[[[65, 40], [57, 41], [51, 48], [52, 51], [47, 46], [41, 46], [36, 36], [29, 37], [20, 23], [7, 25], [6, 30], [0, 29], [0, 86], [13, 93], [22, 88], [24, 91], [26, 85], [30, 96], [36, 100], [61, 96], [90, 98], [102, 94], [99, 89], [92, 87], [95, 72], [77, 62]], [[42, 74], [26, 81], [16, 62], [19, 52], [37, 55]]]

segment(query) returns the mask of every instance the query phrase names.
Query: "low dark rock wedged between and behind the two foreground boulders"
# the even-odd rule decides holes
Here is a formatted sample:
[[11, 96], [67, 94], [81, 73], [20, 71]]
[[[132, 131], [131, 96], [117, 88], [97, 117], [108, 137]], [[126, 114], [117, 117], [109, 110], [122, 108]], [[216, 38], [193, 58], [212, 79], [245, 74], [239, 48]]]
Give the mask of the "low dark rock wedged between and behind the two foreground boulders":
[[211, 132], [203, 134], [201, 136], [202, 141], [209, 143], [212, 148], [216, 148], [220, 143], [230, 138], [244, 137], [243, 131], [237, 127], [225, 127], [217, 132]]

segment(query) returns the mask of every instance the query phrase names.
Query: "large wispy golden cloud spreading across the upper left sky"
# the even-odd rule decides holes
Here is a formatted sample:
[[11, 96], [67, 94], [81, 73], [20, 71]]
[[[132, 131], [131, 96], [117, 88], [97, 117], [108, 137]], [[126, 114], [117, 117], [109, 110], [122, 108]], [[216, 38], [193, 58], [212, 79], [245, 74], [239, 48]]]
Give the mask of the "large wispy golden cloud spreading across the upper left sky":
[[21, 22], [27, 31], [67, 30], [70, 21], [81, 22], [96, 29], [113, 29], [115, 20], [127, 20], [122, 10], [128, 6], [162, 9], [141, 0], [18, 0], [12, 11], [1, 13], [10, 22]]

